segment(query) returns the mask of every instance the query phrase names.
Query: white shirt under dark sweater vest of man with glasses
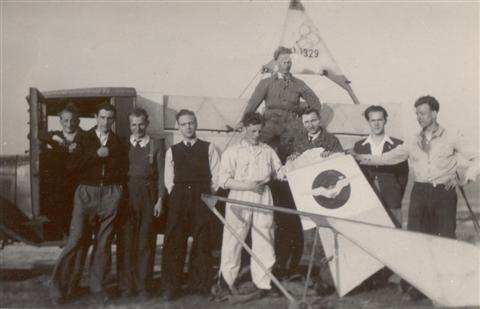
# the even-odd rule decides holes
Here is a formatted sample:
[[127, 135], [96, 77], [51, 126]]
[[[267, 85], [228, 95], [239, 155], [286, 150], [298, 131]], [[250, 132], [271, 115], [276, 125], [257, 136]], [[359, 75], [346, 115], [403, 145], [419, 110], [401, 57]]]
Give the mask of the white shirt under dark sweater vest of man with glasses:
[[[191, 143], [191, 146], [195, 145], [198, 139], [194, 140], [189, 140], [186, 141], [184, 140], [183, 143], [187, 145], [187, 142]], [[208, 146], [208, 162], [210, 164], [210, 174], [212, 175], [212, 180], [211, 180], [211, 189], [212, 192], [217, 191], [218, 189], [218, 170], [220, 168], [220, 154], [218, 153], [217, 148], [210, 143]], [[167, 188], [168, 193], [172, 192], [173, 189], [173, 179], [175, 177], [174, 173], [174, 162], [173, 162], [173, 156], [172, 156], [172, 148], [168, 148], [167, 152], [165, 153], [165, 173], [164, 173], [164, 179], [165, 179], [165, 187]]]

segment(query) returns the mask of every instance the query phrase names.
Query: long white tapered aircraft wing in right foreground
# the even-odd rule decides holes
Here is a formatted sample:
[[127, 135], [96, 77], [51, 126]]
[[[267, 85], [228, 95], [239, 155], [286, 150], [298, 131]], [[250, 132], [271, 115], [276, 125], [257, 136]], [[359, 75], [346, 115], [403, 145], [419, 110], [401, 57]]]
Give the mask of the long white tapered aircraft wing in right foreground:
[[388, 266], [435, 304], [480, 306], [480, 248], [469, 243], [350, 219], [202, 195], [215, 208], [217, 201], [308, 217], [317, 226], [331, 228]]

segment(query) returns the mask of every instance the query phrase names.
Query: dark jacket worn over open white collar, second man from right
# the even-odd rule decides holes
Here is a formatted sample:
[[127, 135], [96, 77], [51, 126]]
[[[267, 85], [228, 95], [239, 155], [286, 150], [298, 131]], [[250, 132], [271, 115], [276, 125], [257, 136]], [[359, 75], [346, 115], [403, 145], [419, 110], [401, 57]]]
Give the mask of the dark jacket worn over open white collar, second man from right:
[[[393, 143], [385, 141], [382, 152], [388, 152], [403, 141], [390, 137]], [[370, 143], [364, 144], [366, 139], [362, 139], [355, 143], [354, 150], [359, 154], [371, 154]], [[407, 187], [408, 180], [408, 162], [403, 161], [396, 165], [384, 165], [384, 166], [367, 166], [360, 165], [360, 168], [368, 179], [370, 184], [374, 184], [375, 179], [378, 181], [377, 188], [375, 185], [372, 187], [379, 194], [382, 202], [390, 209], [398, 209], [402, 206], [402, 198]]]

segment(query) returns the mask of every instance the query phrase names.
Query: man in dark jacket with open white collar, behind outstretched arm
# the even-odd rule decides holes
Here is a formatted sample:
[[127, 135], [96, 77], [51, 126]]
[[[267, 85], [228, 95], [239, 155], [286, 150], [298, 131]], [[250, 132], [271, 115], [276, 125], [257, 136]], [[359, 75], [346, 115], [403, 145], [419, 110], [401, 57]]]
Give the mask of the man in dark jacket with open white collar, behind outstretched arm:
[[[403, 143], [403, 141], [385, 134], [388, 113], [382, 106], [368, 107], [364, 116], [370, 126], [370, 136], [355, 143], [356, 153], [380, 155]], [[389, 166], [360, 165], [360, 168], [392, 216], [395, 225], [401, 227], [402, 198], [408, 180], [407, 161]]]

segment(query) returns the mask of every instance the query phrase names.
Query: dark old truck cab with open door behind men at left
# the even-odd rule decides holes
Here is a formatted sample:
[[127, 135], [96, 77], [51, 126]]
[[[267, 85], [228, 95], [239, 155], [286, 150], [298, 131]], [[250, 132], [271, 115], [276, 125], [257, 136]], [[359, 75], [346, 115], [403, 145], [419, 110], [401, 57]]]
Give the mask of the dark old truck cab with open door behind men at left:
[[30, 88], [27, 101], [29, 150], [22, 155], [0, 157], [0, 240], [34, 246], [62, 245], [73, 207], [73, 198], [65, 194], [62, 198], [67, 154], [49, 146], [45, 137], [49, 131], [61, 130], [58, 113], [68, 102], [77, 107], [83, 130], [95, 125], [98, 104], [109, 102], [117, 109], [114, 131], [125, 138], [136, 91], [126, 87], [47, 92]]

